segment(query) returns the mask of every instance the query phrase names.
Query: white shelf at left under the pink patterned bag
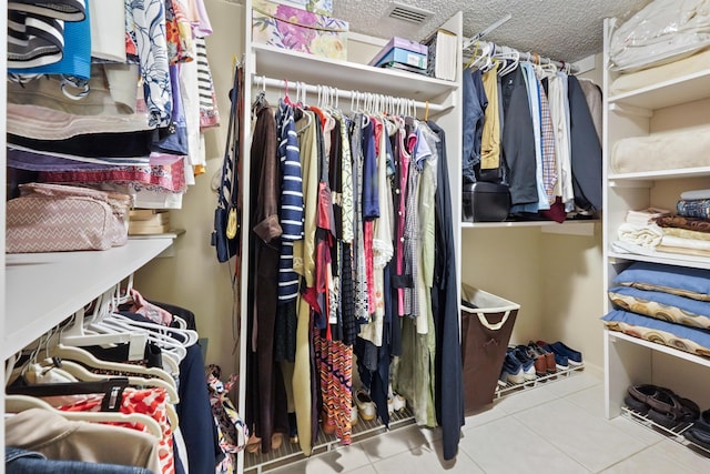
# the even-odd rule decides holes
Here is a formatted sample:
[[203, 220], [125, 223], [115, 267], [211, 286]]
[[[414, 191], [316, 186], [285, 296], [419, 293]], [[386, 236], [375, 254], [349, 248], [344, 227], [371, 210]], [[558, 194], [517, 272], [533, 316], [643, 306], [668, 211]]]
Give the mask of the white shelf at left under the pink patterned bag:
[[172, 238], [104, 251], [6, 255], [2, 359], [26, 347], [168, 249]]

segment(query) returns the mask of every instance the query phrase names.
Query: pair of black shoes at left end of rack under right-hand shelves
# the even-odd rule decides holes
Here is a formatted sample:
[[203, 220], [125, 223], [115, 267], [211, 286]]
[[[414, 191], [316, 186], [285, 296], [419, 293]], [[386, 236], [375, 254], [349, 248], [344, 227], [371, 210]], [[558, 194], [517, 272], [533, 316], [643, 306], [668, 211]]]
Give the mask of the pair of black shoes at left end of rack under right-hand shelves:
[[667, 428], [692, 422], [700, 416], [696, 402], [663, 386], [631, 385], [627, 389], [625, 402], [631, 410], [646, 414], [649, 420]]

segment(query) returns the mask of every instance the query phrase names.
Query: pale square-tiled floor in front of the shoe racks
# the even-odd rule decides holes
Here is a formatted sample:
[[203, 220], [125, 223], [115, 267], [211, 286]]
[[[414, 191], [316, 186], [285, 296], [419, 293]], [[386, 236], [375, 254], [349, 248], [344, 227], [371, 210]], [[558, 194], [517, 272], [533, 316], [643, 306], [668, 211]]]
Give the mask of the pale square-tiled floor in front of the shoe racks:
[[458, 456], [442, 457], [440, 433], [415, 425], [301, 461], [273, 474], [710, 472], [710, 458], [629, 420], [604, 416], [604, 384], [584, 371], [514, 393], [468, 416]]

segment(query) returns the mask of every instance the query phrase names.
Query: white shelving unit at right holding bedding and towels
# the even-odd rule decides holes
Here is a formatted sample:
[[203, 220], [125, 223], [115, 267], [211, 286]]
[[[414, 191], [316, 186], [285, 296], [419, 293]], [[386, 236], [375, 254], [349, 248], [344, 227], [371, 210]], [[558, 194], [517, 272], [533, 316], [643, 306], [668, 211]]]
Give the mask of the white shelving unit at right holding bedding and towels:
[[[615, 20], [605, 21], [605, 64], [609, 64], [609, 40]], [[605, 91], [619, 74], [605, 68]], [[680, 131], [710, 124], [703, 103], [710, 99], [710, 68], [686, 73], [645, 85], [632, 91], [610, 95], [605, 93], [604, 108], [604, 299], [607, 311], [612, 309], [607, 290], [618, 272], [632, 262], [710, 269], [710, 258], [665, 253], [639, 249], [626, 253], [612, 246], [619, 226], [629, 210], [649, 206], [672, 210], [680, 192], [710, 188], [710, 167], [649, 170], [617, 173], [611, 167], [615, 143], [628, 137]], [[696, 104], [698, 101], [704, 101]], [[682, 118], [682, 120], [681, 120]], [[708, 150], [710, 152], [710, 150]], [[683, 396], [708, 404], [710, 359], [671, 346], [649, 342], [626, 333], [604, 329], [605, 405], [611, 418], [623, 414], [623, 397], [629, 385], [655, 383], [679, 390]], [[693, 375], [690, 375], [690, 374]], [[702, 375], [700, 375], [702, 374]], [[706, 406], [707, 409], [707, 406]]]

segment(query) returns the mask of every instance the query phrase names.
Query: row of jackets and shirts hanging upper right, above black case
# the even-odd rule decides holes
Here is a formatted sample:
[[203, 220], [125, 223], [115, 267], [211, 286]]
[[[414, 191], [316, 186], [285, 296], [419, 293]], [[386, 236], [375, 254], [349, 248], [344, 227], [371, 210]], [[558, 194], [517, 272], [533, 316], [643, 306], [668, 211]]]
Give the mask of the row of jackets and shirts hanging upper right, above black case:
[[508, 185], [513, 218], [601, 210], [596, 84], [520, 61], [466, 69], [463, 85], [464, 183]]

